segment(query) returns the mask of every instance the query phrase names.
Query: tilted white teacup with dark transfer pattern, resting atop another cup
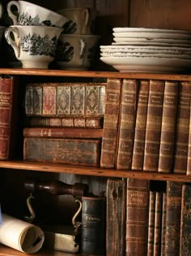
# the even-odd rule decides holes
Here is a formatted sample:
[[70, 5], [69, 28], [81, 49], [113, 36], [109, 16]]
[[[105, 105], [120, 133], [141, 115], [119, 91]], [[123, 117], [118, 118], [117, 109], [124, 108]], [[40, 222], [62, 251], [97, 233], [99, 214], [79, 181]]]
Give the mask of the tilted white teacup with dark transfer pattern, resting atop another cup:
[[[12, 11], [13, 7], [16, 7], [18, 15], [15, 14], [15, 11]], [[44, 25], [62, 28], [68, 21], [65, 16], [32, 2], [13, 0], [7, 3], [6, 10], [13, 21], [13, 25]]]

